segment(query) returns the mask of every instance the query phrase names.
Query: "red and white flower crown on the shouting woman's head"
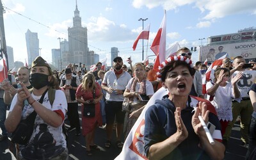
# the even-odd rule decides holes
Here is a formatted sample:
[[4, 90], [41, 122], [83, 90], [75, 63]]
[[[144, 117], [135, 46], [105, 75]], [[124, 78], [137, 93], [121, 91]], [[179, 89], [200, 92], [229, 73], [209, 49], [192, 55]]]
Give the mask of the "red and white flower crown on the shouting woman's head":
[[161, 69], [163, 69], [168, 63], [171, 63], [171, 61], [185, 61], [190, 65], [191, 68], [193, 68], [193, 62], [188, 58], [184, 56], [171, 56], [171, 57], [168, 57], [159, 65], [158, 67], [159, 72], [157, 72], [157, 80], [161, 81], [161, 76], [162, 76]]

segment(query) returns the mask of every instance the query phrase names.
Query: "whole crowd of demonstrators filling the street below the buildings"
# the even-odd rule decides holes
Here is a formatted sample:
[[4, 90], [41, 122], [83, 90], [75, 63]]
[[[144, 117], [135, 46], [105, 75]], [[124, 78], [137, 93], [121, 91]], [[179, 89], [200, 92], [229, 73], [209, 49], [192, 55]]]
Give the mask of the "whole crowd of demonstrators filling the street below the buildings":
[[[168, 95], [157, 97], [145, 113], [144, 150], [148, 159], [223, 159], [237, 117], [241, 140], [248, 148], [246, 159], [253, 159], [256, 63], [253, 68], [244, 68], [243, 57], [227, 57], [212, 70], [211, 80], [205, 81], [208, 66], [200, 61], [193, 66], [191, 56], [192, 52], [182, 47], [159, 70], [143, 63], [132, 65], [131, 58], [127, 67], [118, 56], [111, 70], [101, 70], [102, 63], [98, 62], [93, 72], [85, 65], [76, 70], [72, 64], [65, 70], [51, 70], [38, 56], [31, 68], [19, 68], [16, 79], [10, 74], [9, 80], [1, 83], [0, 141], [35, 113], [29, 140], [25, 144], [12, 141], [17, 159], [68, 159], [67, 132], [73, 131], [84, 136], [86, 155], [93, 156], [92, 150], [100, 150], [95, 144], [97, 127], [106, 129], [105, 148], [113, 144], [122, 148], [148, 100], [164, 87]], [[204, 99], [209, 100], [208, 105]], [[214, 145], [209, 143], [200, 117], [215, 126]], [[112, 140], [114, 128], [116, 140]]]

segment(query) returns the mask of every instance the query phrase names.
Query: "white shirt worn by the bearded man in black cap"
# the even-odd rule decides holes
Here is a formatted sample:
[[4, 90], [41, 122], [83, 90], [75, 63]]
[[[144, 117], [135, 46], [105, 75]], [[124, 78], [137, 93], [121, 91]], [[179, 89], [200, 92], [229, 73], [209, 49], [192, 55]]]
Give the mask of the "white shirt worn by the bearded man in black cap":
[[[123, 72], [123, 74], [118, 79], [116, 79], [115, 72], [113, 70], [109, 70], [104, 75], [104, 79], [102, 81], [102, 84], [106, 84], [108, 87], [113, 88], [113, 83], [116, 79], [116, 81], [117, 81], [117, 90], [125, 90], [128, 82], [130, 81], [131, 78], [132, 77], [128, 72]], [[122, 101], [124, 101], [124, 95], [123, 94], [116, 95], [115, 92], [109, 94], [107, 92], [106, 100], [122, 102]]]

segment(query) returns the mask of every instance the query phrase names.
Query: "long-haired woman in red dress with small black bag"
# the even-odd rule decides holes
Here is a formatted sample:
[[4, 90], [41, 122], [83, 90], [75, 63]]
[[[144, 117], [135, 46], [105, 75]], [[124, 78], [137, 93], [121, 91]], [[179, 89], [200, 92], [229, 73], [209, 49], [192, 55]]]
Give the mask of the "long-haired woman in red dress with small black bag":
[[[76, 91], [76, 100], [82, 104], [82, 130], [85, 136], [86, 152], [88, 156], [92, 156], [92, 148], [100, 150], [94, 143], [95, 129], [102, 125], [102, 117], [100, 114], [100, 99], [102, 99], [102, 91], [99, 83], [95, 82], [95, 76], [92, 72], [84, 75], [82, 83]], [[84, 115], [86, 105], [94, 104], [95, 116], [88, 117]]]

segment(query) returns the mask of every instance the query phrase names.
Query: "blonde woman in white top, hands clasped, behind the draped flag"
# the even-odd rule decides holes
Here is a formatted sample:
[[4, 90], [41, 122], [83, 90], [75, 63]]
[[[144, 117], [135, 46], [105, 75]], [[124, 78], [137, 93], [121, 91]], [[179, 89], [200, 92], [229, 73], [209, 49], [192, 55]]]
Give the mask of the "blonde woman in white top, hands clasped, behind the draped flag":
[[129, 113], [127, 112], [125, 115], [125, 138], [147, 104], [147, 101], [141, 101], [139, 96], [148, 97], [149, 100], [153, 94], [154, 88], [152, 83], [147, 80], [145, 66], [143, 63], [136, 63], [134, 65], [134, 77], [129, 81], [124, 92], [124, 97], [129, 97], [131, 108]]

